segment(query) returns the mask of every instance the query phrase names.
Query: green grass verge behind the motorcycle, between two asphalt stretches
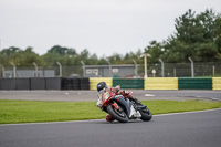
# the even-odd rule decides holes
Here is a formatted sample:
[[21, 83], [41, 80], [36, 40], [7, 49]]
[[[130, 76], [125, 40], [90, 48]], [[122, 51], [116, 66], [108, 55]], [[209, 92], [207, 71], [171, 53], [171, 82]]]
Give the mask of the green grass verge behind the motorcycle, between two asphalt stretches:
[[[105, 118], [96, 102], [33, 102], [0, 99], [0, 124], [63, 122]], [[221, 108], [221, 102], [144, 101], [152, 114]]]

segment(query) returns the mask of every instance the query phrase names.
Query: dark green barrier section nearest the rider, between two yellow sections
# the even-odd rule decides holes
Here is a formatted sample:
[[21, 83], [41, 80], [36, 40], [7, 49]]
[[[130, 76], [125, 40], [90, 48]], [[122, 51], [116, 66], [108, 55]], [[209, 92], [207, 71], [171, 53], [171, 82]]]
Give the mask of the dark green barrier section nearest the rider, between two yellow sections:
[[141, 78], [113, 78], [113, 86], [119, 85], [120, 88], [144, 90], [144, 80]]

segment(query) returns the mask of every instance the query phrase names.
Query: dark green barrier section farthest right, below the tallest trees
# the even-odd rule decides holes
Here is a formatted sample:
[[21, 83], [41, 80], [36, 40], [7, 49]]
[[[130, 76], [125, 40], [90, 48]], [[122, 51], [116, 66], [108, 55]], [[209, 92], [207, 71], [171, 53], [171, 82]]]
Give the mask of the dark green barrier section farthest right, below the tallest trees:
[[212, 90], [212, 78], [179, 77], [179, 90]]

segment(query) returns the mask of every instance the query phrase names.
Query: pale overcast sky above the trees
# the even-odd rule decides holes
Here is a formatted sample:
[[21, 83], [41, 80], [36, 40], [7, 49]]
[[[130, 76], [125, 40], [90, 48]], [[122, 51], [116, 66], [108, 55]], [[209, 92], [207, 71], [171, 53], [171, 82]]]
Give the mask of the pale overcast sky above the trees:
[[61, 45], [98, 57], [144, 51], [171, 35], [188, 9], [221, 13], [221, 0], [0, 0], [0, 51], [32, 46], [42, 55]]

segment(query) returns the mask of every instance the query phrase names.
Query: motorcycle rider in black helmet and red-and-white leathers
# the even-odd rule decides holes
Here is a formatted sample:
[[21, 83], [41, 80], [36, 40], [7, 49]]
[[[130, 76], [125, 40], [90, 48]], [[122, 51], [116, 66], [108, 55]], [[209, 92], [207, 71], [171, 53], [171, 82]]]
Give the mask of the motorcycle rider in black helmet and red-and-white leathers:
[[[97, 84], [97, 92], [98, 92], [98, 99], [97, 99], [97, 103], [96, 103], [96, 106], [99, 107], [102, 109], [102, 106], [103, 106], [103, 102], [102, 102], [102, 97], [103, 97], [103, 94], [106, 92], [106, 91], [110, 91], [113, 93], [115, 93], [116, 95], [123, 95], [124, 97], [126, 98], [129, 98], [130, 101], [134, 101], [135, 103], [137, 104], [140, 104], [140, 102], [137, 99], [137, 98], [134, 98], [131, 95], [129, 95], [129, 92], [124, 90], [124, 91], [119, 91], [120, 90], [120, 86], [116, 86], [116, 87], [107, 87], [107, 84], [105, 82], [99, 82]], [[133, 112], [133, 114], [136, 114], [136, 112]], [[131, 115], [133, 115], [131, 114]], [[106, 120], [107, 122], [113, 122], [114, 118], [108, 114], [106, 116]]]

